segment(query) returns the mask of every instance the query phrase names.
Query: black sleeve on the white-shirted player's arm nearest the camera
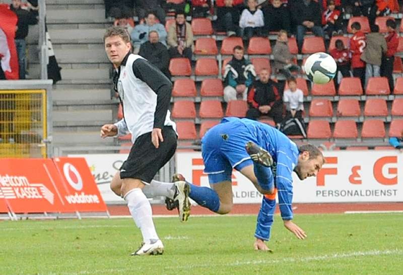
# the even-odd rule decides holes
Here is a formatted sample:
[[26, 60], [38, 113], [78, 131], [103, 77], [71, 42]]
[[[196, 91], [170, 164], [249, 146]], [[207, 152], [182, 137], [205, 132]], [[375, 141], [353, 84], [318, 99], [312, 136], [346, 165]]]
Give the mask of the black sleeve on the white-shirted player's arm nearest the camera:
[[164, 126], [172, 94], [172, 82], [155, 66], [145, 59], [139, 58], [133, 62], [133, 73], [137, 78], [146, 82], [157, 94], [157, 107], [154, 113], [154, 128]]

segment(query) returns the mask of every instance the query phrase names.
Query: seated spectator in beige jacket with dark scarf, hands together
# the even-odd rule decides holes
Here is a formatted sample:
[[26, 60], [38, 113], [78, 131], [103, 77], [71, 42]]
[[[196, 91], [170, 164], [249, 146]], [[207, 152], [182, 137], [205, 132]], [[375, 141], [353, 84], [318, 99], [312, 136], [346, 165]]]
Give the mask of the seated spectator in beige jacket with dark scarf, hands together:
[[193, 32], [192, 27], [185, 21], [185, 14], [178, 12], [175, 15], [175, 24], [168, 30], [169, 55], [174, 57], [186, 57], [192, 60]]

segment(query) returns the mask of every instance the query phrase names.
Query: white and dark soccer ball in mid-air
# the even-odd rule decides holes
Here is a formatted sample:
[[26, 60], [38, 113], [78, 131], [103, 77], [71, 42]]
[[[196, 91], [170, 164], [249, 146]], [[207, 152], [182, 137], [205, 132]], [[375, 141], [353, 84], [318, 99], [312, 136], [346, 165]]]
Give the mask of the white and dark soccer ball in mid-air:
[[304, 70], [308, 79], [316, 84], [326, 84], [336, 74], [337, 64], [324, 52], [311, 54], [305, 61]]

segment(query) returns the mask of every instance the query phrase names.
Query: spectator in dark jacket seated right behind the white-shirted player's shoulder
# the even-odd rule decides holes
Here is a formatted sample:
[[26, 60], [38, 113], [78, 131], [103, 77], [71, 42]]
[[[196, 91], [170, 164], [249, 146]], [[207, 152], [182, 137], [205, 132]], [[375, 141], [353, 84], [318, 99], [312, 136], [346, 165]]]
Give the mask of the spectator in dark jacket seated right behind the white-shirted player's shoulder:
[[169, 53], [167, 47], [162, 44], [157, 31], [151, 31], [148, 34], [149, 41], [140, 46], [139, 55], [150, 61], [151, 64], [159, 68], [169, 79], [171, 75], [168, 70]]

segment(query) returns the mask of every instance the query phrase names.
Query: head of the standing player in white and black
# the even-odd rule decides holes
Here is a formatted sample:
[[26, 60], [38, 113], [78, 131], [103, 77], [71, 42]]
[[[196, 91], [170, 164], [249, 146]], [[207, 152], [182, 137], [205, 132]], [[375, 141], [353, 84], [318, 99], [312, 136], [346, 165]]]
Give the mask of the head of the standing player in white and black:
[[130, 36], [122, 27], [110, 27], [104, 34], [104, 46], [110, 62], [118, 67], [131, 49]]

